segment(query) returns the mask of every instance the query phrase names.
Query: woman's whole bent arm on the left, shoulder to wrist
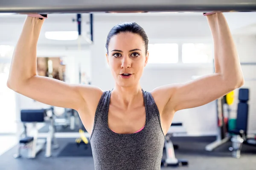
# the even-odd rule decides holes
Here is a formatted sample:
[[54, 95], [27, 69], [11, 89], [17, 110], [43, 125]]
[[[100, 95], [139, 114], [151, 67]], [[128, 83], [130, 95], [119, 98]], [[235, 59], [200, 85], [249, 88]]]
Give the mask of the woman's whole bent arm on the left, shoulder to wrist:
[[15, 92], [44, 104], [79, 110], [90, 98], [93, 101], [101, 95], [101, 89], [94, 86], [70, 85], [36, 73], [36, 50], [44, 19], [26, 17], [15, 52], [7, 86]]

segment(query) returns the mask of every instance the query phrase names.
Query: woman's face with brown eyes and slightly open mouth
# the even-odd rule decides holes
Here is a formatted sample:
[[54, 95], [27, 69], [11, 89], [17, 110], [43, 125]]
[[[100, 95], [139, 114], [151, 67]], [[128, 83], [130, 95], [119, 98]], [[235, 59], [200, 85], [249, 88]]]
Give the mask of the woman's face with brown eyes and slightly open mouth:
[[127, 32], [113, 36], [106, 57], [117, 85], [131, 87], [139, 84], [148, 62], [148, 52], [145, 52], [140, 35]]

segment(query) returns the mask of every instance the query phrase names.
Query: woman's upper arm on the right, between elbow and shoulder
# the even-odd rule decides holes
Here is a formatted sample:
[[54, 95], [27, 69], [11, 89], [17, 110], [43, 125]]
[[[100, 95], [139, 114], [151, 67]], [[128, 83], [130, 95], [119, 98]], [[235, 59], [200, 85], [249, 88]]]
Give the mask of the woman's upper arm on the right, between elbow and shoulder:
[[172, 94], [167, 105], [175, 112], [202, 106], [234, 89], [232, 86], [228, 86], [227, 81], [224, 81], [218, 73], [203, 76], [185, 84], [177, 84], [171, 88]]

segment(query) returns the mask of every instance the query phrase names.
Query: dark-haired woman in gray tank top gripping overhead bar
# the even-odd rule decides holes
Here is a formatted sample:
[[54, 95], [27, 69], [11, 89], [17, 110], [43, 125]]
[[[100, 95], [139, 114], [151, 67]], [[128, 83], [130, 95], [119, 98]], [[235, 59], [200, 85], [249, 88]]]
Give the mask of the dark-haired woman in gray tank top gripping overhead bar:
[[106, 59], [115, 86], [102, 91], [36, 74], [36, 46], [47, 16], [29, 15], [7, 85], [36, 101], [76, 109], [90, 133], [96, 170], [160, 170], [165, 135], [175, 112], [207, 104], [244, 84], [224, 15], [205, 15], [214, 40], [215, 73], [151, 92], [145, 92], [139, 83], [149, 53], [147, 35], [136, 23], [122, 23], [109, 32]]

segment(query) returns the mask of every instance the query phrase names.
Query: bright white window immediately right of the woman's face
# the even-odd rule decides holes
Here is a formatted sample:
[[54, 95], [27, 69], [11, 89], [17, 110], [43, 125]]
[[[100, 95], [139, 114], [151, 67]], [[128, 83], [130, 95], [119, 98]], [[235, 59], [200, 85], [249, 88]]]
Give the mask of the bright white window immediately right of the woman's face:
[[176, 43], [148, 44], [148, 63], [177, 63], [179, 60], [178, 51], [178, 44]]

